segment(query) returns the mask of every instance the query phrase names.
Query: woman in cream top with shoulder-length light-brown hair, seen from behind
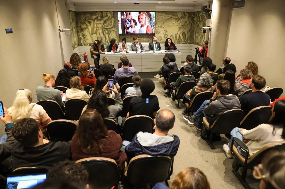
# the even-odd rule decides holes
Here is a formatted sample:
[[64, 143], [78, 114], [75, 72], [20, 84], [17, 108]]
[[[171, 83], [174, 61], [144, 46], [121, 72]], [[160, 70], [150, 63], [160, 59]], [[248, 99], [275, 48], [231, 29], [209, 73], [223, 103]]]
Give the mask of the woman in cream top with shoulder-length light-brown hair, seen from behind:
[[69, 84], [71, 89], [67, 89], [65, 91], [66, 100], [79, 98], [88, 102], [90, 97], [87, 95], [86, 91], [84, 91], [84, 87], [81, 85], [81, 81], [78, 76], [72, 77], [69, 81]]

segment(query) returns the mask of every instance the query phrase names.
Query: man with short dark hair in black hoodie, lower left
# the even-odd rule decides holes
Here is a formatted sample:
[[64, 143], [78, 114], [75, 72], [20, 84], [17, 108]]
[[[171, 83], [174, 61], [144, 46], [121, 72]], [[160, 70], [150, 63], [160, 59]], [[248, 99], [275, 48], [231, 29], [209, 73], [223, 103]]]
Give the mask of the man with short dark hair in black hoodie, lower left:
[[[11, 123], [11, 126], [14, 123]], [[36, 120], [24, 118], [12, 129], [15, 142], [12, 149], [12, 170], [17, 167], [48, 169], [59, 161], [71, 158], [70, 142], [44, 141]], [[45, 143], [45, 142], [48, 143]]]

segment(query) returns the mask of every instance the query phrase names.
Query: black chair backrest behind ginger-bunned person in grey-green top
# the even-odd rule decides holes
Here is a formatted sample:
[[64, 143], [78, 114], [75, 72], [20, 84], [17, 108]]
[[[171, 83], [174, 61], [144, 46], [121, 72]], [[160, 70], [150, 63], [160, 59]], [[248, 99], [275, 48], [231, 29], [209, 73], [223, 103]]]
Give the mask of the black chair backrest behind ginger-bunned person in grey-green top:
[[50, 119], [65, 119], [64, 113], [62, 112], [62, 109], [56, 101], [40, 100], [37, 102], [37, 104], [41, 105], [44, 108]]

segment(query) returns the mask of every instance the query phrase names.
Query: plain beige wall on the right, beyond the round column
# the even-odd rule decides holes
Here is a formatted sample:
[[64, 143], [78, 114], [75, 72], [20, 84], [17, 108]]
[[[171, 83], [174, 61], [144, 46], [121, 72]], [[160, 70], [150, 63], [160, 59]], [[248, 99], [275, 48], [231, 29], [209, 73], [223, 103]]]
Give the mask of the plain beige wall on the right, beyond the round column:
[[267, 85], [285, 90], [284, 7], [283, 0], [247, 0], [244, 9], [231, 10], [225, 56], [238, 72], [249, 61], [257, 63]]

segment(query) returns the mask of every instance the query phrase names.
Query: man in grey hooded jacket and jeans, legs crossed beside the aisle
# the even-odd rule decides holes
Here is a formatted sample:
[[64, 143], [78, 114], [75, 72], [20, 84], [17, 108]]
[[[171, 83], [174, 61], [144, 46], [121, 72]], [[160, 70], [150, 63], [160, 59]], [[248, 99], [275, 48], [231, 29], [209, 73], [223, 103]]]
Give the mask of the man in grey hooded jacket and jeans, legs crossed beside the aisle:
[[[203, 112], [211, 116], [212, 123], [225, 111], [232, 109], [240, 109], [241, 104], [239, 99], [235, 95], [228, 95], [230, 90], [230, 82], [227, 80], [217, 81], [217, 89], [210, 100], [205, 100], [197, 112], [193, 116], [184, 116], [183, 118], [188, 121], [189, 124], [194, 125], [195, 120], [198, 118], [198, 131], [202, 128]], [[218, 97], [218, 98], [217, 98]], [[215, 100], [217, 98], [217, 100]], [[209, 118], [206, 116], [209, 121]]]

